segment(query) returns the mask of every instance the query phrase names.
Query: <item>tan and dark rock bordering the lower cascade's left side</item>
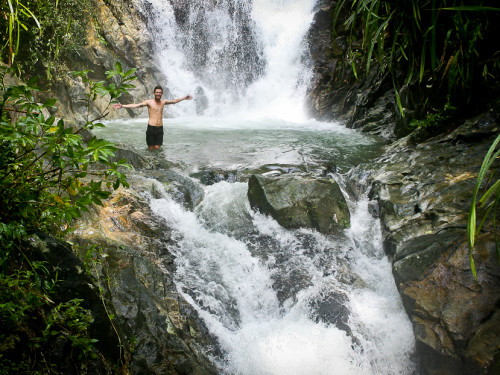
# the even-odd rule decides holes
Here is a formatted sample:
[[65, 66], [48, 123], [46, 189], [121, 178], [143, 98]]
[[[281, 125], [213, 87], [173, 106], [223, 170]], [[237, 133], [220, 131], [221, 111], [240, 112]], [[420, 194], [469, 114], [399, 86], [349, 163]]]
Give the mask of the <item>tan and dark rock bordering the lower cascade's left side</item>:
[[147, 202], [119, 189], [84, 215], [69, 238], [105, 254], [93, 254], [101, 259], [94, 271], [123, 342], [133, 345], [130, 373], [217, 373], [204, 354], [215, 343], [173, 282], [170, 231]]

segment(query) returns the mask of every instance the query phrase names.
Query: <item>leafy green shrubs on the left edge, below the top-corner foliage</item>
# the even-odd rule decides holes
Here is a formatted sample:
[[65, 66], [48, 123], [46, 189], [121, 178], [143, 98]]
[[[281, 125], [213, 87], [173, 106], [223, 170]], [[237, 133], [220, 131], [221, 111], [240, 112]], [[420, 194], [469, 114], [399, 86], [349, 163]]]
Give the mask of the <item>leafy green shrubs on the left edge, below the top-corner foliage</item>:
[[[40, 232], [62, 235], [89, 205], [128, 186], [129, 166], [114, 160], [110, 142], [82, 137], [104, 126], [98, 118], [105, 113], [69, 126], [48, 111], [55, 99], [35, 101], [36, 79], [5, 85], [10, 71], [0, 74], [0, 373], [59, 374], [50, 360], [55, 347], [65, 348], [77, 373], [86, 373], [96, 357], [88, 333], [93, 318], [82, 300], [58, 297], [57, 274], [34, 260], [29, 242]], [[87, 85], [82, 99], [89, 106], [106, 96], [109, 107], [133, 87], [134, 72], [117, 63], [106, 81], [91, 81], [90, 71], [74, 74]]]

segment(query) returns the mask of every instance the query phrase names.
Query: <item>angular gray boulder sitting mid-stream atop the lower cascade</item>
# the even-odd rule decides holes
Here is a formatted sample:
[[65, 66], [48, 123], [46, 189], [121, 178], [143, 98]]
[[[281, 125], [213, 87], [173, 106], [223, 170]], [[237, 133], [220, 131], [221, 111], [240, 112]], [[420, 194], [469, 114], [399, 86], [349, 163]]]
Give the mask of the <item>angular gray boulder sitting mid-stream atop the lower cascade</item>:
[[253, 175], [248, 181], [248, 199], [254, 210], [272, 216], [285, 228], [331, 234], [350, 226], [347, 203], [332, 179]]

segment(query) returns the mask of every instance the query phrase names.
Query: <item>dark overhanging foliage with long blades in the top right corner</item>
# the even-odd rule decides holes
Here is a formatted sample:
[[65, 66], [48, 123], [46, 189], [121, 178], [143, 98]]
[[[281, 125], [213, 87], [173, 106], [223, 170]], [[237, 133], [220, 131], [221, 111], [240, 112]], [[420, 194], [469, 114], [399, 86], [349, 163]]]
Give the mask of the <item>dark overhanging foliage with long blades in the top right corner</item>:
[[351, 42], [362, 40], [361, 50], [350, 44], [353, 69], [368, 72], [378, 62], [389, 70], [403, 115], [404, 84], [429, 88], [429, 111], [437, 104], [470, 108], [500, 89], [498, 1], [341, 0], [337, 17], [341, 11]]

